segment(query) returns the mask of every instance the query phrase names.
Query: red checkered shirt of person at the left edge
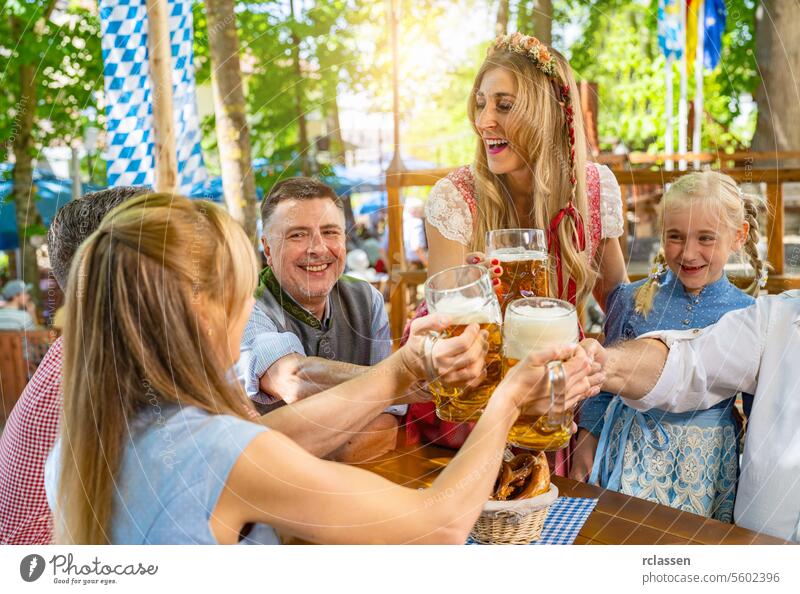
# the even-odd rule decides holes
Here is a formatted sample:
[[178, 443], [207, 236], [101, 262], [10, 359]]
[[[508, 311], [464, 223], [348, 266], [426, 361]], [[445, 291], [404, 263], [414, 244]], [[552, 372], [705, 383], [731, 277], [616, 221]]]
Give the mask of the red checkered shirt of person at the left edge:
[[0, 544], [50, 544], [53, 539], [44, 463], [56, 441], [61, 414], [61, 348], [59, 338], [0, 436]]

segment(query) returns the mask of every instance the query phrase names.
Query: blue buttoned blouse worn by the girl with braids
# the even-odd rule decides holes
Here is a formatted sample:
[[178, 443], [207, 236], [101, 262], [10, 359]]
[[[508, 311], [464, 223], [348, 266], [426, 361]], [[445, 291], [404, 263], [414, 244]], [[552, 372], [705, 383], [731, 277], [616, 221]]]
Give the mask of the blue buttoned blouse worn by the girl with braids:
[[[653, 309], [645, 319], [634, 311], [634, 294], [646, 280], [619, 285], [609, 294], [606, 302], [606, 345], [630, 340], [654, 330], [705, 328], [716, 323], [727, 312], [755, 303], [753, 297], [736, 288], [724, 274], [718, 281], [706, 285], [698, 295], [692, 295], [678, 277], [668, 270], [659, 283]], [[580, 411], [579, 426], [599, 436], [603, 429], [603, 415], [612, 397], [613, 394], [601, 392], [585, 401]], [[730, 400], [723, 401], [715, 408], [725, 408], [730, 404]]]

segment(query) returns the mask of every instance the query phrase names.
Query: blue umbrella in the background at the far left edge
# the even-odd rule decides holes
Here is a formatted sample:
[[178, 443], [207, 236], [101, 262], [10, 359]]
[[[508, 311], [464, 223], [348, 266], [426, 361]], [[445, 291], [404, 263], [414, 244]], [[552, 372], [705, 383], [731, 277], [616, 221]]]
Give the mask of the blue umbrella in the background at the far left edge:
[[[11, 198], [14, 187], [11, 181], [13, 168], [10, 163], [0, 164], [0, 250], [13, 250], [19, 247], [17, 208]], [[72, 180], [56, 177], [49, 171], [34, 169], [33, 183], [36, 187], [36, 208], [45, 226], [49, 226], [56, 211], [72, 199]], [[82, 186], [83, 192], [101, 189], [101, 186], [94, 184]]]

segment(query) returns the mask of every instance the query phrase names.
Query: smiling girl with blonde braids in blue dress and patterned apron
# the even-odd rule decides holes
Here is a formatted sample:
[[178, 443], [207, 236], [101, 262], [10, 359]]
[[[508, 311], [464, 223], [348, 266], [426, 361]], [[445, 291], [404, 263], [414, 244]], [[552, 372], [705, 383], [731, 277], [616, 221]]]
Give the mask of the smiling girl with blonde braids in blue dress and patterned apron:
[[[620, 285], [608, 297], [606, 344], [654, 330], [704, 328], [726, 312], [753, 304], [751, 295], [766, 281], [757, 247], [760, 205], [759, 198], [742, 194], [721, 173], [676, 180], [664, 195], [662, 247], [650, 277]], [[724, 273], [730, 255], [740, 251], [755, 270], [747, 293]], [[581, 472], [580, 460], [590, 452], [583, 448], [599, 436], [590, 482], [732, 521], [739, 467], [734, 396], [710, 410], [675, 414], [642, 413], [619, 396], [598, 395], [581, 409], [573, 478], [585, 478], [588, 465]]]

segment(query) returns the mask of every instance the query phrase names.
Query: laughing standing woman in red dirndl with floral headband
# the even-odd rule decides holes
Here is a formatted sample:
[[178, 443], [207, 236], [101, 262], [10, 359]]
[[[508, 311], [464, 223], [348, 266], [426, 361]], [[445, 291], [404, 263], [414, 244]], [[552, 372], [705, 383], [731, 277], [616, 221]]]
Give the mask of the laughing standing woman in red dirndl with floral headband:
[[[431, 190], [428, 276], [465, 261], [483, 262], [497, 276], [499, 262], [483, 257], [487, 231], [545, 229], [553, 296], [580, 304], [594, 293], [602, 306], [608, 291], [627, 280], [617, 239], [622, 200], [611, 171], [586, 160], [567, 60], [535, 37], [500, 36], [475, 77], [467, 110], [477, 136], [475, 160]], [[423, 306], [417, 315], [424, 313]], [[468, 433], [468, 426], [438, 420], [432, 404], [412, 405], [407, 426], [411, 442], [450, 447]]]

